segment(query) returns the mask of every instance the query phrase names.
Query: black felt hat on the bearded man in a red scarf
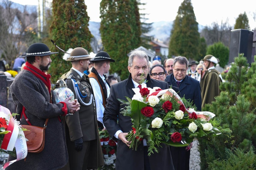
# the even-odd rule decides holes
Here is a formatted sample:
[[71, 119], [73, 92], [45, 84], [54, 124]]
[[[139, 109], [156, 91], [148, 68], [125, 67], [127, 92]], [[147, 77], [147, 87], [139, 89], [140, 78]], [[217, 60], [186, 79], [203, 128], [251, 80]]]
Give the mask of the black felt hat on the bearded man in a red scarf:
[[20, 58], [29, 57], [29, 56], [48, 56], [59, 52], [51, 52], [50, 49], [44, 43], [34, 43], [29, 46], [26, 56], [20, 56]]

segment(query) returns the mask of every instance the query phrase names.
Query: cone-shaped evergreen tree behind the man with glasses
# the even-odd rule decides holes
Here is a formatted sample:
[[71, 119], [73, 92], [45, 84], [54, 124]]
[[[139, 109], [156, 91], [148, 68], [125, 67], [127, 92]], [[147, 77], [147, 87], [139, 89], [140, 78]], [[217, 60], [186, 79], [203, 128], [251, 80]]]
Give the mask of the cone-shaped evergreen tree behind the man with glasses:
[[178, 9], [170, 36], [169, 56], [195, 59], [199, 55], [200, 35], [191, 0], [184, 0]]

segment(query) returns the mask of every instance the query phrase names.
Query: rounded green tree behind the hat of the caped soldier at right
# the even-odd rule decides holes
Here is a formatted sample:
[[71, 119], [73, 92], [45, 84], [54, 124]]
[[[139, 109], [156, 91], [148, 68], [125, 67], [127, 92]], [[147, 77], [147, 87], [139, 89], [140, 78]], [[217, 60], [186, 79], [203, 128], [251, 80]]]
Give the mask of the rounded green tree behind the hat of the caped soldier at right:
[[220, 60], [219, 65], [223, 68], [228, 64], [229, 49], [222, 42], [208, 46], [206, 54], [211, 54], [218, 58]]

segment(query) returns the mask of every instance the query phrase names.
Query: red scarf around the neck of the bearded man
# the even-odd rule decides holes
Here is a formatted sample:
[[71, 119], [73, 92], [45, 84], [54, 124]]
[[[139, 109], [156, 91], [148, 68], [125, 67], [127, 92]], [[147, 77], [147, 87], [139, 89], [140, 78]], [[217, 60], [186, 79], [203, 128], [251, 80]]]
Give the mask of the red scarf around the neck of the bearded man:
[[[38, 79], [42, 80], [44, 82], [44, 84], [47, 86], [50, 97], [51, 97], [51, 82], [50, 82], [51, 75], [50, 74], [45, 74], [44, 71], [39, 70], [38, 68], [36, 68], [32, 64], [30, 64], [29, 62], [26, 62], [26, 67], [24, 67], [23, 69], [27, 70], [27, 71], [30, 71]], [[50, 103], [51, 103], [51, 101], [50, 101]]]

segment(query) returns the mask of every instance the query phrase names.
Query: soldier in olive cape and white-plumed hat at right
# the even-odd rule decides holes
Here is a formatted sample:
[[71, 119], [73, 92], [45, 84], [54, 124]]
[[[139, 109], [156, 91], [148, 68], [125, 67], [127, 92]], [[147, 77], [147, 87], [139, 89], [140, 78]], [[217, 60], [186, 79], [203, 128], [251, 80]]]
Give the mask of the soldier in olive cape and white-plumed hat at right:
[[206, 103], [215, 101], [215, 96], [220, 95], [219, 86], [222, 82], [222, 77], [214, 66], [219, 62], [219, 59], [212, 55], [206, 55], [202, 60], [203, 65], [207, 69], [200, 81], [203, 108]]

